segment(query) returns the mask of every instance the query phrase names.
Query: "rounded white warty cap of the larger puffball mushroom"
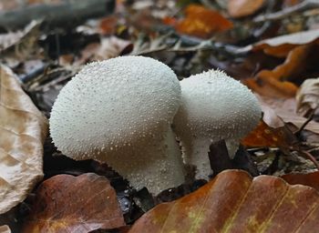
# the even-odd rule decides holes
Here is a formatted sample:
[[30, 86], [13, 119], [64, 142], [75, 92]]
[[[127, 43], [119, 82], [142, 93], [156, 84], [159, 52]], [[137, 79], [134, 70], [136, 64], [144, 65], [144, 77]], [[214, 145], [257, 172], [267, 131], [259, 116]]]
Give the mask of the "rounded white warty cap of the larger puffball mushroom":
[[68, 157], [106, 161], [100, 152], [167, 131], [179, 106], [180, 83], [169, 66], [149, 57], [119, 56], [88, 64], [62, 88], [50, 133]]

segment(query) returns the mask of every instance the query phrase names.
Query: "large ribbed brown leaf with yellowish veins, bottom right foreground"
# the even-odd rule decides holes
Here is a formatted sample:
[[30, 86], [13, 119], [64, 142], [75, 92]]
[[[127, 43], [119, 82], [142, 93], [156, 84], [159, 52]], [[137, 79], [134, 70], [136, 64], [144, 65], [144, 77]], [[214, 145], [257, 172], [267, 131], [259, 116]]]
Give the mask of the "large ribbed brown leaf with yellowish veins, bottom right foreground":
[[314, 188], [227, 170], [190, 195], [151, 209], [129, 233], [316, 232], [318, 218]]

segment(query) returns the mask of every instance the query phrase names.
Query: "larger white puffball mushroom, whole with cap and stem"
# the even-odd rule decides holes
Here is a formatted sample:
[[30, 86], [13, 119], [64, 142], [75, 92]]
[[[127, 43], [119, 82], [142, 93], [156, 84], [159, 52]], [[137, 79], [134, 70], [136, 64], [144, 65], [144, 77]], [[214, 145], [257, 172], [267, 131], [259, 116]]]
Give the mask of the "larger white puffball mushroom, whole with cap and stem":
[[57, 96], [50, 133], [76, 160], [106, 162], [133, 187], [153, 194], [184, 181], [171, 130], [180, 83], [169, 66], [143, 56], [119, 56], [85, 66]]

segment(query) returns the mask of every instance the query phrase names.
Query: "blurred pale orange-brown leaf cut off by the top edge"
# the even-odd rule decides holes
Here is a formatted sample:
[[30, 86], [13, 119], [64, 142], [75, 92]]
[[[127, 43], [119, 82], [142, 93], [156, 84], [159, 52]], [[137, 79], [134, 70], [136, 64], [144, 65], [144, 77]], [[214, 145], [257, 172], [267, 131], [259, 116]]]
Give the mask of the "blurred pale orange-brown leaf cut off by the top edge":
[[230, 0], [227, 9], [234, 18], [248, 16], [261, 9], [264, 2], [264, 0]]

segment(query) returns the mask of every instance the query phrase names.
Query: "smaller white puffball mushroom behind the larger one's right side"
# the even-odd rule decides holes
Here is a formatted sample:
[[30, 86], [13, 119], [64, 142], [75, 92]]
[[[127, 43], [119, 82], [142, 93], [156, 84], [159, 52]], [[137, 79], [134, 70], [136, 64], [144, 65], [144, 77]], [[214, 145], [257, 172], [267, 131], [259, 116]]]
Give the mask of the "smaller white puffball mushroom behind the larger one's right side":
[[211, 143], [224, 139], [233, 157], [240, 139], [258, 125], [262, 109], [246, 86], [219, 70], [185, 78], [180, 86], [181, 106], [173, 128], [184, 162], [197, 167], [196, 178], [207, 179]]

